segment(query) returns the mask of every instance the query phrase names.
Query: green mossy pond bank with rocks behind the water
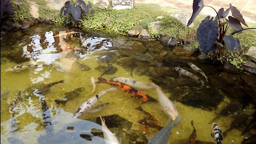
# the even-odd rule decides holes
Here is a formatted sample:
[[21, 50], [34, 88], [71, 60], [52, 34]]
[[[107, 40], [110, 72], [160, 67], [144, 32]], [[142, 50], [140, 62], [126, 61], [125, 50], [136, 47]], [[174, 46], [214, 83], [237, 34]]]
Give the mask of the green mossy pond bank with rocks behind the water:
[[[28, 28], [37, 22], [76, 26], [71, 17], [65, 19], [59, 15], [60, 9], [65, 2], [66, 0], [58, 1], [58, 3], [37, 0], [11, 1], [14, 7], [14, 15], [10, 17], [10, 21], [5, 21], [3, 27]], [[83, 19], [79, 20], [79, 28], [86, 31], [100, 30], [107, 33], [130, 35], [149, 40], [159, 39], [161, 42], [169, 45], [169, 47], [187, 45], [186, 47], [198, 48], [198, 45], [195, 43], [196, 29], [201, 20], [204, 19], [203, 15], [196, 18], [194, 26], [187, 27], [186, 23], [190, 18], [190, 13], [170, 7], [161, 7], [156, 4], [136, 4], [134, 9], [119, 11], [111, 8], [101, 9], [95, 5], [93, 9], [93, 15], [84, 15]], [[182, 19], [178, 20], [174, 17]], [[256, 25], [255, 23], [249, 23], [249, 27], [256, 27]], [[229, 55], [234, 55], [228, 61], [241, 68], [241, 61], [247, 61], [247, 58], [242, 57], [242, 55], [251, 46], [255, 46], [256, 34], [248, 30], [244, 31], [243, 35], [237, 37], [241, 40], [242, 53], [230, 54], [227, 52], [226, 58]]]

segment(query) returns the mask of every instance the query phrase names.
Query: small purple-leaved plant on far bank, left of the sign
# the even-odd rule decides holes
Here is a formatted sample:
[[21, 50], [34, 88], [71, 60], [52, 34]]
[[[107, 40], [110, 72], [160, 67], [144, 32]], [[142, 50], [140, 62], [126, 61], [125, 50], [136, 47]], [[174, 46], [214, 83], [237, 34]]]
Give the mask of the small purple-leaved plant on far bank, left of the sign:
[[[67, 14], [70, 14], [72, 15], [73, 21], [77, 23], [78, 20], [82, 17], [82, 13], [88, 15], [90, 9], [92, 9], [92, 4], [90, 2], [88, 2], [88, 4], [86, 5], [85, 2], [82, 0], [77, 0], [76, 2], [67, 1], [60, 10], [60, 17], [62, 16], [62, 13], [64, 13], [65, 16], [67, 16]], [[94, 10], [90, 10], [90, 13], [93, 14]]]

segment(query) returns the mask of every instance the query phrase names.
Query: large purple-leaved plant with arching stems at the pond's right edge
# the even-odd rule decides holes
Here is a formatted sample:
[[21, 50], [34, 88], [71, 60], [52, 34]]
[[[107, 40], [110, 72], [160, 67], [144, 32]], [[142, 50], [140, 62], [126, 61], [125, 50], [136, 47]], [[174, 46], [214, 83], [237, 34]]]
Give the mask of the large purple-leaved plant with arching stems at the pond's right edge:
[[[203, 0], [194, 0], [193, 2], [193, 14], [188, 21], [188, 25], [195, 20], [197, 15], [201, 12], [204, 6], [211, 7], [208, 5], [204, 5]], [[229, 9], [224, 11], [221, 8], [218, 12], [211, 7], [216, 12], [216, 17], [207, 16], [199, 25], [197, 29], [197, 39], [199, 45], [204, 53], [210, 53], [211, 58], [216, 60], [218, 58], [222, 58], [223, 52], [227, 48], [230, 51], [234, 51], [236, 48], [237, 51], [241, 50], [241, 45], [239, 43], [238, 38], [234, 38], [233, 35], [238, 33], [241, 34], [243, 30], [246, 29], [255, 29], [255, 28], [243, 28], [241, 23], [248, 27], [243, 19], [242, 14], [239, 10], [236, 9], [235, 6], [230, 4]], [[228, 16], [229, 11], [231, 11], [232, 15]], [[228, 16], [228, 19], [226, 17]], [[233, 33], [226, 35], [229, 26], [234, 30]], [[220, 59], [221, 60], [221, 59]]]

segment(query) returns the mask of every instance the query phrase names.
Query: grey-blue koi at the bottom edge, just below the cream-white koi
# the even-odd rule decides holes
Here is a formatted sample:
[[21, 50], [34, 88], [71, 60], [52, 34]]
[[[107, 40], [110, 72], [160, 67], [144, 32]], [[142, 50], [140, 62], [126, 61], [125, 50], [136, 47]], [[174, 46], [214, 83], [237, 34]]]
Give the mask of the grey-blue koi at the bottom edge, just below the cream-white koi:
[[167, 143], [169, 136], [171, 134], [172, 128], [176, 126], [178, 123], [180, 123], [180, 121], [181, 121], [180, 116], [176, 117], [173, 123], [169, 121], [168, 125], [165, 126], [161, 131], [159, 131], [153, 138], [151, 139], [149, 138], [148, 144]]

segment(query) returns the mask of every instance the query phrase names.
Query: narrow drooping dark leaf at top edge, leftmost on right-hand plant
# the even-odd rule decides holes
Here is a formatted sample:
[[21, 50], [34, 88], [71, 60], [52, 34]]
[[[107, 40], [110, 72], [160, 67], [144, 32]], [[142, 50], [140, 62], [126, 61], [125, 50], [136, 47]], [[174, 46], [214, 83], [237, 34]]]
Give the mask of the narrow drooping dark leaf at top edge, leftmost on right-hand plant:
[[191, 15], [191, 18], [188, 21], [188, 25], [187, 26], [191, 25], [191, 23], [195, 20], [195, 18], [201, 12], [203, 7], [204, 7], [203, 0], [194, 0], [194, 2], [193, 2], [193, 13]]

